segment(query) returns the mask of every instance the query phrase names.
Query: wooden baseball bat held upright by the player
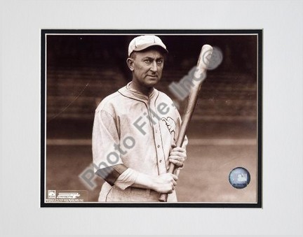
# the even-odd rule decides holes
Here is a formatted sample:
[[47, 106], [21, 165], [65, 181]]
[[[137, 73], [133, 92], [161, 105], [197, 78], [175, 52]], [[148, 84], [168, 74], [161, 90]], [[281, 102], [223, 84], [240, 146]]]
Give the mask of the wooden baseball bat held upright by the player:
[[[194, 113], [194, 108], [196, 107], [196, 101], [198, 99], [198, 92], [202, 85], [203, 80], [206, 78], [206, 71], [208, 68], [208, 64], [210, 62], [210, 57], [213, 53], [213, 47], [210, 45], [203, 45], [200, 55], [198, 57], [198, 63], [196, 66], [196, 71], [194, 73], [194, 78], [191, 80], [191, 90], [189, 92], [189, 98], [187, 102], [187, 107], [184, 110], [183, 120], [180, 132], [177, 137], [176, 146], [182, 147], [182, 143], [184, 141], [185, 134], [187, 132], [187, 127], [191, 120], [191, 116]], [[170, 164], [170, 168], [168, 170], [169, 173], [174, 173], [176, 166], [174, 164]], [[159, 201], [166, 202], [168, 199], [168, 194], [161, 194], [159, 197]]]

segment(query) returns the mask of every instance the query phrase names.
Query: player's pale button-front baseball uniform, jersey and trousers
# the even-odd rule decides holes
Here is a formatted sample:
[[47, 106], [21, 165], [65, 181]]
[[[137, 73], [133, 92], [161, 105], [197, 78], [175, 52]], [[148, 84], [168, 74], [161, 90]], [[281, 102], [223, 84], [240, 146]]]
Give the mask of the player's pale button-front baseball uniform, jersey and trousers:
[[[168, 155], [177, 139], [181, 118], [173, 101], [154, 89], [145, 96], [122, 87], [107, 96], [95, 110], [93, 162], [98, 168], [124, 164], [147, 175], [167, 173]], [[184, 139], [183, 148], [187, 145]], [[128, 187], [121, 190], [107, 182], [99, 201], [158, 201], [153, 190]], [[175, 192], [168, 201], [177, 201]]]

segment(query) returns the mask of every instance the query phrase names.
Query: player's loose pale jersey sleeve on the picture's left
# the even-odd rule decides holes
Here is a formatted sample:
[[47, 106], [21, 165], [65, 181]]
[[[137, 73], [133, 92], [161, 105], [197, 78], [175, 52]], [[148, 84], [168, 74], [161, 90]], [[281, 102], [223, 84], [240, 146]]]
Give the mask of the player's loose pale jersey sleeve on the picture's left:
[[94, 171], [123, 164], [119, 152], [117, 121], [105, 110], [96, 110], [93, 123], [92, 152]]

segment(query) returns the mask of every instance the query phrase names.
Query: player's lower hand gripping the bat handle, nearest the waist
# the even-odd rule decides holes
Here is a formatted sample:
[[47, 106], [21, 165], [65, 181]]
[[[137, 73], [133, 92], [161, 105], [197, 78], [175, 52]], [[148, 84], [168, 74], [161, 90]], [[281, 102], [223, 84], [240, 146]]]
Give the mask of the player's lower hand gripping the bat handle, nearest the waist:
[[171, 194], [177, 185], [177, 175], [163, 173], [154, 179], [153, 189], [161, 194]]

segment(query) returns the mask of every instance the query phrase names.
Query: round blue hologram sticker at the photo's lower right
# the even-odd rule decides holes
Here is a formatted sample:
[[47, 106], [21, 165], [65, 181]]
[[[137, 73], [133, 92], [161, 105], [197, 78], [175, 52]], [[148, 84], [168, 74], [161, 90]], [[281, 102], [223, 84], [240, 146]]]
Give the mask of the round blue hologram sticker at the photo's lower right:
[[236, 189], [243, 189], [250, 183], [250, 173], [243, 167], [234, 168], [229, 173], [229, 182]]

